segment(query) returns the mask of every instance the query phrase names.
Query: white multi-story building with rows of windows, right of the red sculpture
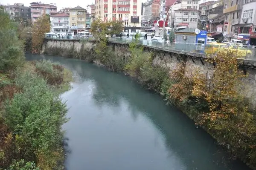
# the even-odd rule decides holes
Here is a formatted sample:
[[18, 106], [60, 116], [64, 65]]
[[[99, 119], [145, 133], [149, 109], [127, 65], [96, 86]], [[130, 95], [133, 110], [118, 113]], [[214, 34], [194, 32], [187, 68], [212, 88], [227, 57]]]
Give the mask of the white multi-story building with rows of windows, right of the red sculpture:
[[174, 26], [198, 27], [201, 11], [199, 0], [181, 0], [181, 9], [175, 10]]

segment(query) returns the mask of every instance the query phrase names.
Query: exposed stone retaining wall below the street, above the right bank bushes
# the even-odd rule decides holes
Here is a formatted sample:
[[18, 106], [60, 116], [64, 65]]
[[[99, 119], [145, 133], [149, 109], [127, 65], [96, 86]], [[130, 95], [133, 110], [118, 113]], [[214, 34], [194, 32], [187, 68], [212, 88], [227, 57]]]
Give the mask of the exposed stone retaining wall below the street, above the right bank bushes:
[[[61, 56], [72, 58], [70, 55], [70, 50], [79, 56], [76, 58], [83, 59], [84, 56], [81, 55], [93, 55], [94, 51], [93, 41], [79, 42], [78, 40], [45, 40], [42, 53], [48, 53], [54, 55], [56, 50], [60, 51]], [[128, 50], [128, 44], [126, 43], [108, 43], [108, 46], [112, 46], [117, 57], [129, 58], [130, 52]], [[82, 51], [82, 52], [81, 52]], [[205, 61], [203, 56], [189, 55], [183, 52], [170, 52], [164, 49], [158, 49], [151, 46], [145, 46], [144, 51], [154, 52], [153, 64], [158, 64], [163, 67], [168, 67], [170, 72], [172, 72], [177, 64], [180, 62], [186, 63], [186, 75], [193, 76], [195, 71], [203, 73], [207, 78], [212, 76], [214, 69], [213, 64]], [[243, 79], [244, 84], [241, 85], [243, 95], [252, 98], [252, 102], [256, 104], [256, 63], [253, 61], [244, 61], [240, 65], [240, 69], [249, 76]]]

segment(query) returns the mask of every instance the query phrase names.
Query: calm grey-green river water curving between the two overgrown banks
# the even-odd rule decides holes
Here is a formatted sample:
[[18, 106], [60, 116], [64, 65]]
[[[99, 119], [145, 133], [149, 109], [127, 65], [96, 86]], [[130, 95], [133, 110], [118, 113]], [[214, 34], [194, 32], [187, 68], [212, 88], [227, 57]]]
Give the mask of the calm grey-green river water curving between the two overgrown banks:
[[50, 59], [73, 72], [73, 89], [62, 95], [70, 117], [67, 170], [249, 170], [131, 78], [76, 59], [26, 58]]

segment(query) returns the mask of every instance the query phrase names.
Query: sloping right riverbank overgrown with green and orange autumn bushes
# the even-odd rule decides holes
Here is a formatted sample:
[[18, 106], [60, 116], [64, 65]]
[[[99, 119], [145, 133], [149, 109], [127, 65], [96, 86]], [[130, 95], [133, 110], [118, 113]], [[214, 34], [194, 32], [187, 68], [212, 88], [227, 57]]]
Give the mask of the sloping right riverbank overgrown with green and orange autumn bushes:
[[[52, 51], [63, 52], [64, 49], [45, 49], [49, 55], [52, 55]], [[246, 89], [246, 86], [239, 86], [242, 84], [240, 80], [246, 75], [239, 71], [236, 59], [230, 57], [233, 54], [219, 54], [224, 61], [214, 58], [215, 63], [209, 60], [201, 61], [204, 67], [192, 70], [191, 63], [184, 56], [178, 56], [175, 64], [163, 63], [163, 59], [156, 57], [156, 52], [145, 52], [143, 48], [137, 48], [136, 44], [130, 44], [129, 51], [123, 50], [125, 55], [119, 49], [107, 46], [107, 43], [99, 43], [93, 46], [93, 49], [90, 46], [90, 49], [80, 51], [82, 52], [76, 52], [76, 55], [69, 55], [70, 52], [55, 55], [93, 61], [111, 71], [137, 78], [146, 89], [163, 94], [166, 103], [179, 107], [196, 124], [202, 126], [232, 153], [233, 158], [240, 158], [256, 169], [255, 107], [248, 102], [253, 95], [248, 95], [248, 98], [241, 94], [245, 92], [243, 89]], [[224, 64], [218, 64], [216, 67], [218, 62]], [[207, 72], [204, 70], [206, 66], [210, 67]], [[226, 74], [230, 68], [233, 69], [231, 74]], [[215, 84], [215, 89], [211, 84]], [[229, 88], [223, 89], [224, 84]]]

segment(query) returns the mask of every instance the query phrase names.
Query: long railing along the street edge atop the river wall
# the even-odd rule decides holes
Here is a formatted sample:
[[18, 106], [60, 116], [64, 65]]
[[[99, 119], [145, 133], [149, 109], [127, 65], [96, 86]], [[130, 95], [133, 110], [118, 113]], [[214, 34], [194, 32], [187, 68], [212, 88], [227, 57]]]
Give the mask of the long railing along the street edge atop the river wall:
[[[78, 37], [71, 36], [67, 37], [57, 37], [46, 39], [62, 39], [62, 40], [93, 40], [93, 36]], [[134, 39], [127, 37], [109, 37], [109, 42], [112, 43], [131, 43]], [[256, 60], [256, 46], [237, 46], [237, 45], [223, 45], [218, 43], [211, 44], [196, 44], [196, 43], [176, 43], [169, 41], [154, 41], [154, 40], [144, 40], [140, 39], [137, 42], [139, 45], [154, 47], [157, 49], [167, 50], [170, 52], [177, 53], [189, 53], [195, 55], [214, 55], [221, 50], [233, 50], [237, 58], [243, 58], [248, 60]]]

